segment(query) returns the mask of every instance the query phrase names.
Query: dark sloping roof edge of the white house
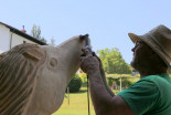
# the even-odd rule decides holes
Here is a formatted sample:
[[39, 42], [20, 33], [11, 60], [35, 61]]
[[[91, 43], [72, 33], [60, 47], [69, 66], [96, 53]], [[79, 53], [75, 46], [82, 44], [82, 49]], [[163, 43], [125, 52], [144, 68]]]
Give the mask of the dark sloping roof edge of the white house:
[[13, 27], [11, 27], [11, 25], [8, 25], [8, 24], [2, 23], [2, 22], [0, 22], [0, 24], [6, 25], [7, 28], [10, 29], [11, 32], [13, 32], [13, 33], [15, 33], [15, 34], [19, 34], [19, 35], [21, 35], [21, 36], [23, 36], [23, 38], [25, 38], [25, 39], [28, 39], [28, 40], [30, 40], [30, 41], [33, 41], [33, 42], [35, 42], [35, 43], [38, 43], [38, 44], [40, 44], [40, 45], [46, 45], [46, 43], [44, 43], [44, 42], [42, 42], [42, 41], [40, 41], [40, 40], [38, 40], [38, 39], [35, 39], [35, 38], [29, 35], [29, 34], [26, 34], [26, 33], [23, 33], [22, 31], [20, 31], [20, 30], [18, 30], [18, 29], [13, 28]]

